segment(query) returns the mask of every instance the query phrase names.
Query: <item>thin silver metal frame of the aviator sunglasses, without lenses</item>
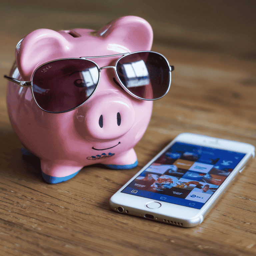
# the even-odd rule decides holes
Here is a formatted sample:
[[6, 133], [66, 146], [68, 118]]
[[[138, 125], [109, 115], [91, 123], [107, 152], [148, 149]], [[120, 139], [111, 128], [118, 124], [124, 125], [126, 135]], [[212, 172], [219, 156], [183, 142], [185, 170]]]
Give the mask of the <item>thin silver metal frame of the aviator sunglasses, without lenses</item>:
[[[122, 58], [124, 58], [124, 57], [126, 57], [126, 56], [128, 56], [128, 55], [131, 55], [131, 54], [134, 54], [134, 53], [140, 53], [140, 52], [151, 52], [151, 53], [156, 53], [156, 54], [162, 56], [162, 57], [165, 59], [167, 65], [168, 65], [168, 67], [169, 67], [169, 85], [168, 85], [168, 88], [167, 88], [165, 94], [164, 94], [163, 96], [159, 97], [159, 98], [156, 98], [156, 99], [144, 99], [144, 98], [141, 98], [141, 97], [139, 97], [139, 96], [133, 94], [132, 92], [130, 92], [130, 91], [125, 87], [125, 85], [122, 83], [122, 81], [119, 79], [119, 76], [118, 76], [117, 70], [116, 70], [116, 66], [117, 66], [118, 61], [120, 61]], [[89, 59], [96, 59], [96, 58], [115, 57], [115, 56], [120, 56], [120, 55], [123, 55], [123, 56], [121, 56], [120, 58], [117, 59], [117, 61], [116, 61], [116, 63], [115, 63], [115, 66], [104, 66], [104, 67], [101, 67], [101, 68], [100, 68], [96, 62], [94, 62], [94, 61], [92, 61], [92, 60], [89, 60]], [[38, 105], [38, 103], [37, 103], [37, 101], [36, 101], [36, 99], [35, 99], [34, 92], [33, 92], [33, 89], [32, 89], [32, 87], [33, 87], [33, 77], [34, 77], [35, 72], [36, 72], [39, 68], [41, 68], [42, 66], [44, 66], [44, 65], [46, 65], [46, 64], [49, 64], [49, 63], [52, 63], [52, 62], [55, 62], [55, 61], [59, 61], [59, 60], [74, 60], [74, 59], [83, 59], [83, 60], [87, 60], [87, 61], [89, 61], [89, 62], [92, 62], [92, 63], [98, 68], [99, 78], [98, 78], [97, 85], [95, 86], [95, 89], [93, 90], [92, 94], [91, 94], [83, 103], [81, 103], [80, 105], [78, 105], [78, 106], [76, 106], [76, 107], [74, 107], [74, 108], [72, 108], [72, 109], [65, 110], [65, 111], [52, 112], [52, 111], [48, 111], [48, 110], [45, 110], [45, 109], [41, 108], [41, 107]], [[33, 74], [32, 74], [31, 81], [20, 81], [20, 80], [18, 80], [18, 79], [16, 79], [16, 78], [13, 78], [13, 77], [10, 77], [10, 76], [6, 76], [6, 75], [5, 75], [4, 77], [5, 77], [6, 79], [8, 79], [9, 81], [11, 81], [11, 82], [13, 82], [13, 83], [15, 83], [15, 84], [18, 84], [18, 85], [20, 85], [20, 86], [22, 86], [22, 87], [30, 87], [32, 96], [33, 96], [34, 101], [36, 102], [37, 106], [38, 106], [40, 109], [42, 109], [43, 111], [45, 111], [45, 112], [48, 112], [48, 113], [56, 113], [56, 114], [57, 114], [57, 113], [65, 113], [65, 112], [72, 111], [72, 110], [74, 110], [74, 109], [76, 109], [76, 108], [79, 108], [79, 107], [82, 106], [84, 103], [86, 103], [86, 102], [93, 96], [93, 94], [95, 93], [95, 91], [97, 90], [98, 85], [99, 85], [99, 83], [100, 83], [100, 75], [101, 75], [100, 72], [101, 72], [101, 69], [105, 69], [105, 68], [113, 68], [113, 69], [115, 70], [116, 78], [117, 78], [118, 82], [120, 83], [120, 86], [121, 86], [128, 94], [130, 94], [131, 96], [133, 96], [133, 97], [135, 97], [135, 98], [137, 98], [137, 99], [141, 99], [141, 100], [158, 100], [158, 99], [161, 99], [162, 97], [164, 97], [164, 96], [168, 93], [168, 91], [169, 91], [169, 89], [170, 89], [170, 86], [171, 86], [171, 72], [174, 70], [174, 66], [170, 66], [168, 60], [167, 60], [162, 54], [160, 54], [160, 53], [158, 53], [158, 52], [153, 52], [153, 51], [137, 51], [137, 52], [127, 52], [127, 53], [119, 53], [119, 54], [105, 55], [105, 56], [80, 57], [80, 58], [62, 58], [62, 59], [56, 59], [56, 60], [48, 61], [48, 62], [46, 62], [46, 63], [40, 65], [39, 67], [37, 67], [37, 68], [35, 69], [35, 71], [34, 71]]]

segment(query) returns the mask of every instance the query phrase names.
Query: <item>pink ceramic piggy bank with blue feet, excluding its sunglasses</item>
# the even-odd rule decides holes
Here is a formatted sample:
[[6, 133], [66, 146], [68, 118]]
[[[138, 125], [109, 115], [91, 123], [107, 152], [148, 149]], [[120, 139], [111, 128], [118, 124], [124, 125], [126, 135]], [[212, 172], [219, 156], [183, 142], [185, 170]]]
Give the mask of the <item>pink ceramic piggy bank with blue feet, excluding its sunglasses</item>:
[[[10, 76], [21, 81], [31, 81], [35, 69], [52, 60], [111, 55], [93, 59], [104, 67], [98, 87], [89, 100], [71, 111], [43, 111], [31, 88], [9, 82], [7, 106], [12, 127], [24, 146], [22, 152], [40, 158], [46, 182], [66, 181], [84, 166], [96, 163], [112, 169], [137, 166], [133, 147], [148, 126], [153, 101], [127, 93], [113, 68], [107, 67], [115, 65], [120, 58], [117, 54], [149, 51], [152, 40], [148, 22], [126, 16], [99, 31], [38, 29], [18, 43]], [[47, 69], [41, 72], [50, 72]]]

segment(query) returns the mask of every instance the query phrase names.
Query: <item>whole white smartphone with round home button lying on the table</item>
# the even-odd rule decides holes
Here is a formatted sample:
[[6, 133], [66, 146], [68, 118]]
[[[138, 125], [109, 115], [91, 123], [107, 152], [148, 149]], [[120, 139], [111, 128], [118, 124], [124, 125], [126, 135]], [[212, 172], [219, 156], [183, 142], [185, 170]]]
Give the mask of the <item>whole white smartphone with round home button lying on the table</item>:
[[255, 156], [246, 143], [182, 133], [111, 198], [112, 210], [196, 226]]

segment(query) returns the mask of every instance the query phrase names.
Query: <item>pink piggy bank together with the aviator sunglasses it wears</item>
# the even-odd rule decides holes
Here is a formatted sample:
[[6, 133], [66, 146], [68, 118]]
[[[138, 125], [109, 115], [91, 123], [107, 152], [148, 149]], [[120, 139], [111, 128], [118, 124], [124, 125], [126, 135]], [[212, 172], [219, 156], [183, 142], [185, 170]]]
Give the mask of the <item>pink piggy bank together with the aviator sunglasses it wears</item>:
[[169, 90], [172, 66], [151, 52], [152, 28], [135, 16], [99, 31], [38, 29], [16, 47], [7, 106], [23, 154], [40, 158], [48, 183], [86, 165], [137, 166], [152, 100]]

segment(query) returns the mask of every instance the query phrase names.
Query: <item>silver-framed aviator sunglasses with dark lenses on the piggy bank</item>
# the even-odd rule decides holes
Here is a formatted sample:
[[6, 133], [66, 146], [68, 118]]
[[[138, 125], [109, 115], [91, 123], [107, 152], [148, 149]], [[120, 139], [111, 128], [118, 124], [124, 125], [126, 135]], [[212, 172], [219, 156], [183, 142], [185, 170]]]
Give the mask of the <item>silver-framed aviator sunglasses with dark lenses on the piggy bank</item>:
[[[120, 56], [115, 66], [99, 66], [93, 58]], [[31, 81], [4, 76], [11, 82], [30, 87], [33, 98], [45, 112], [63, 113], [74, 110], [88, 101], [100, 82], [100, 71], [113, 68], [125, 91], [137, 99], [157, 100], [166, 95], [171, 84], [167, 59], [156, 52], [139, 51], [98, 57], [58, 59], [39, 66]]]

